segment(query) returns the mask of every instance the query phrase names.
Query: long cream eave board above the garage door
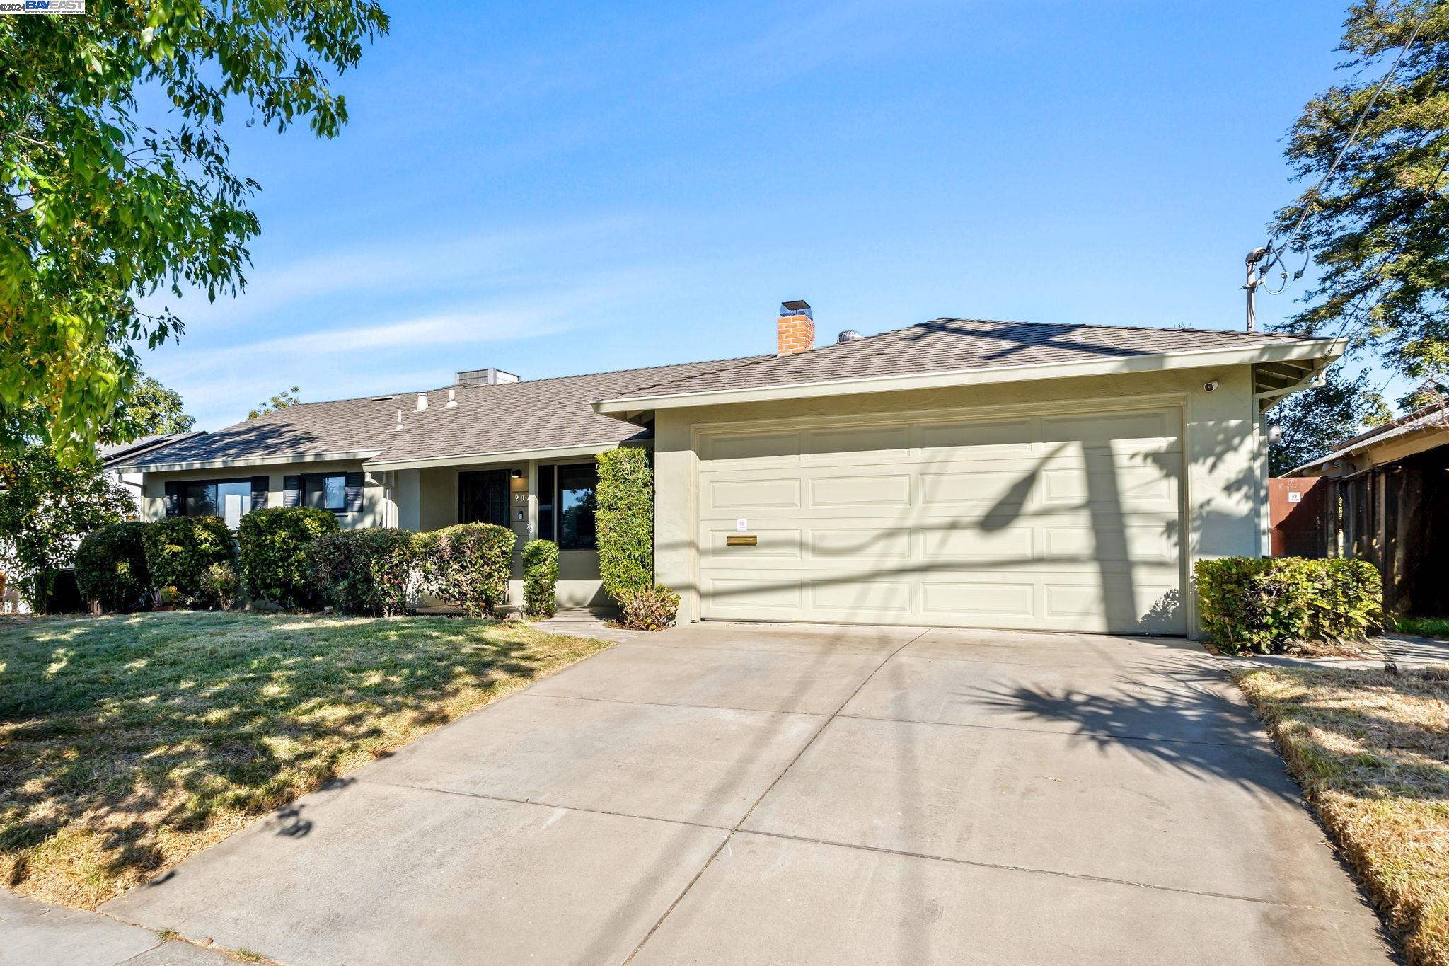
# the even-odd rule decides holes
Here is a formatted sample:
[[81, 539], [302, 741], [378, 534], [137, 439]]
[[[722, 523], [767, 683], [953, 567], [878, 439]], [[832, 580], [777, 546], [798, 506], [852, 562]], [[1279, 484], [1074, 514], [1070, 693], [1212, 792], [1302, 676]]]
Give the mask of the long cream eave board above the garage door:
[[1336, 359], [1348, 349], [1348, 339], [1298, 339], [1264, 346], [1232, 349], [1182, 349], [1152, 355], [1091, 359], [1087, 362], [1048, 362], [1042, 365], [1001, 365], [942, 372], [910, 372], [875, 375], [822, 382], [707, 390], [659, 395], [629, 395], [594, 403], [594, 410], [606, 416], [629, 419], [638, 413], [687, 406], [724, 406], [729, 403], [765, 403], [774, 400], [822, 395], [853, 395], [858, 392], [898, 392], [906, 390], [935, 390], [956, 385], [990, 385], [998, 382], [1030, 382], [1033, 379], [1065, 379], [1087, 375], [1116, 375], [1130, 372], [1162, 372], [1197, 369], [1216, 365], [1252, 365], [1255, 362], [1284, 362], [1288, 359]]

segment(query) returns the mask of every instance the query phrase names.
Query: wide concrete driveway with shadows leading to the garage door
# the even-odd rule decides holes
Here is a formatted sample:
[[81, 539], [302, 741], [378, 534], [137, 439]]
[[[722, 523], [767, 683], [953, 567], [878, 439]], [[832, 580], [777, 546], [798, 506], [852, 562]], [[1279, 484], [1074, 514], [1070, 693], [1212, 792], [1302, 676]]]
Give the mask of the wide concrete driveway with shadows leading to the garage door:
[[1388, 963], [1187, 642], [619, 644], [106, 905], [284, 963]]

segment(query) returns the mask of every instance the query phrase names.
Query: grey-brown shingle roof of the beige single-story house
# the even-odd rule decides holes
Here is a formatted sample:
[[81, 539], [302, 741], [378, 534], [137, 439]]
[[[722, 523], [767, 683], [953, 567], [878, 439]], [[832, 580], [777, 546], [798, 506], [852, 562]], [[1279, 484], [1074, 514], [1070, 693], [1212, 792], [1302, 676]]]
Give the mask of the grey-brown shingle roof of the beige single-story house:
[[[1181, 356], [1191, 356], [1194, 365], [1256, 361], [1243, 350], [1282, 349], [1284, 358], [1337, 355], [1326, 346], [1329, 340], [1269, 333], [938, 319], [788, 356], [443, 387], [425, 394], [425, 410], [417, 410], [416, 392], [291, 406], [149, 450], [128, 465], [187, 469], [364, 459], [371, 468], [390, 469], [513, 453], [569, 455], [559, 450], [585, 452], [638, 436], [638, 427], [606, 413], [636, 413], [658, 400], [693, 401], [759, 387], [794, 395], [811, 394], [822, 385], [853, 391], [903, 388], [868, 384], [932, 374], [1006, 371], [1016, 374], [1009, 378], [1051, 378], [1071, 375], [1052, 368], [1069, 362], [1126, 361], [1140, 368], [1171, 368], [1165, 361]], [[1229, 355], [1193, 355], [1211, 352]], [[449, 391], [455, 406], [448, 406]]]

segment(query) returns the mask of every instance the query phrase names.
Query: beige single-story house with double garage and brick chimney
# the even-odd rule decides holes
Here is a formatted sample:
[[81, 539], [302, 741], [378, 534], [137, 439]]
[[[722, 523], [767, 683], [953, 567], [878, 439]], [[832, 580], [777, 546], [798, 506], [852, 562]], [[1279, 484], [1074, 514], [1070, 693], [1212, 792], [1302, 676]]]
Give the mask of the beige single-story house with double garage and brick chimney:
[[[149, 450], [148, 518], [309, 504], [343, 526], [483, 520], [601, 602], [596, 453], [655, 452], [680, 620], [1195, 631], [1198, 558], [1266, 552], [1262, 414], [1342, 340], [938, 319], [816, 348], [312, 403]], [[514, 587], [514, 594], [519, 588]]]

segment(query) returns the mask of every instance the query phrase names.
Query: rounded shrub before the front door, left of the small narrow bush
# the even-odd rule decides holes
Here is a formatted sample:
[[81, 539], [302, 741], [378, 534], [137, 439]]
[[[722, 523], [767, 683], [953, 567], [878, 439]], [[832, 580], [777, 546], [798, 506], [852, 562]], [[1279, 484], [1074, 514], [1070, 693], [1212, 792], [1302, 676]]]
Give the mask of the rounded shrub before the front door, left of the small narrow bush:
[[459, 523], [417, 534], [425, 585], [474, 617], [509, 601], [517, 536], [493, 523]]

